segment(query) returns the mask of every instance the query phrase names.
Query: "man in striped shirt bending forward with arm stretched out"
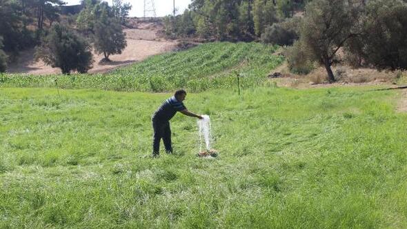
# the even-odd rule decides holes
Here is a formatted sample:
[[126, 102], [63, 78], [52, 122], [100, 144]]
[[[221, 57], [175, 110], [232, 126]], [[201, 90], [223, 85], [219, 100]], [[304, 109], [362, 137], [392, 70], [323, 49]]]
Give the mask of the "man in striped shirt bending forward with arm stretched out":
[[152, 128], [154, 130], [154, 136], [152, 139], [152, 157], [157, 157], [159, 155], [159, 143], [161, 138], [166, 147], [166, 152], [168, 154], [172, 153], [170, 119], [174, 117], [177, 111], [181, 112], [183, 115], [203, 119], [200, 115], [195, 115], [186, 109], [182, 103], [185, 97], [185, 90], [177, 90], [174, 96], [170, 97], [170, 99], [166, 99], [166, 101], [164, 101], [155, 111], [154, 115], [152, 115]]

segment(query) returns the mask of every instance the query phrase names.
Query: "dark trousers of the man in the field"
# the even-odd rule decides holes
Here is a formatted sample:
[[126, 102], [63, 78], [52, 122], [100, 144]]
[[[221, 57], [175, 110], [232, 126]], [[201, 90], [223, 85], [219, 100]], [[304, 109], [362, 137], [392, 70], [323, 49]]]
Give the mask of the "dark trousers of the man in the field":
[[162, 123], [152, 120], [152, 129], [154, 130], [154, 135], [152, 136], [152, 155], [159, 155], [159, 143], [161, 138], [163, 139], [166, 152], [172, 153], [170, 122], [166, 121]]

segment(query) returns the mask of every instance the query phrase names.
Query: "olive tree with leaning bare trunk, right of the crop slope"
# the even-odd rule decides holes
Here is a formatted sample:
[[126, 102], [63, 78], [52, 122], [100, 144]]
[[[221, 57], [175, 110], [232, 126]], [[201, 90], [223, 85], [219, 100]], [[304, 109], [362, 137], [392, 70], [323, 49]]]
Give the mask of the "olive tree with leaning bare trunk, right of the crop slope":
[[299, 37], [325, 66], [330, 82], [335, 81], [330, 67], [337, 51], [360, 33], [358, 6], [349, 0], [314, 0], [306, 6]]

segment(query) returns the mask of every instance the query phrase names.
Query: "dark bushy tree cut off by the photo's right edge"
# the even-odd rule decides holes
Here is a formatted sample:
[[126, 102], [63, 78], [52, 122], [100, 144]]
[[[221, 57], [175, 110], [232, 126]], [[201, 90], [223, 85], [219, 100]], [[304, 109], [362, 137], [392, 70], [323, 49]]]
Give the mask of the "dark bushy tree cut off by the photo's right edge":
[[364, 32], [354, 51], [378, 69], [407, 69], [407, 3], [401, 0], [370, 1]]

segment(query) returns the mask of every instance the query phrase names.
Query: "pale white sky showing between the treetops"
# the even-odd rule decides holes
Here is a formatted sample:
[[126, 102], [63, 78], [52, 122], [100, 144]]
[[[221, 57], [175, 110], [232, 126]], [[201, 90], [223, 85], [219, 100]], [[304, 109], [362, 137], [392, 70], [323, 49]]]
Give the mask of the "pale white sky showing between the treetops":
[[[80, 0], [64, 0], [68, 6], [79, 4]], [[106, 1], [106, 0], [105, 0]], [[155, 12], [157, 17], [166, 16], [172, 14], [172, 4], [173, 0], [146, 0], [154, 1], [155, 3]], [[132, 10], [130, 11], [130, 17], [143, 17], [144, 11], [144, 0], [123, 0], [123, 2], [128, 2], [132, 5]], [[112, 1], [108, 1], [111, 5]], [[188, 8], [188, 5], [191, 3], [191, 0], [175, 0], [175, 8], [177, 8], [177, 14], [182, 13], [183, 10]], [[146, 15], [152, 16], [152, 15]]]

